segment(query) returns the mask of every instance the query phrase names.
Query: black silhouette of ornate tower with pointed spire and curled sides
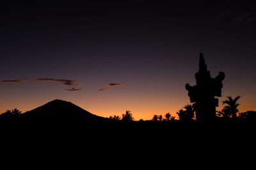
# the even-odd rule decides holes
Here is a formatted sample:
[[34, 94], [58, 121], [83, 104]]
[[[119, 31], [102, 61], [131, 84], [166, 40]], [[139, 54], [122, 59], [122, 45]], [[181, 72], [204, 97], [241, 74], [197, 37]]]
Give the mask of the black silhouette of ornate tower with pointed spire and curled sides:
[[186, 84], [188, 96], [193, 109], [196, 112], [196, 120], [198, 122], [212, 122], [216, 119], [216, 107], [218, 99], [221, 97], [222, 81], [225, 78], [225, 73], [219, 72], [216, 78], [211, 78], [210, 71], [207, 71], [204, 55], [200, 53], [199, 70], [195, 73], [196, 85], [190, 86]]

